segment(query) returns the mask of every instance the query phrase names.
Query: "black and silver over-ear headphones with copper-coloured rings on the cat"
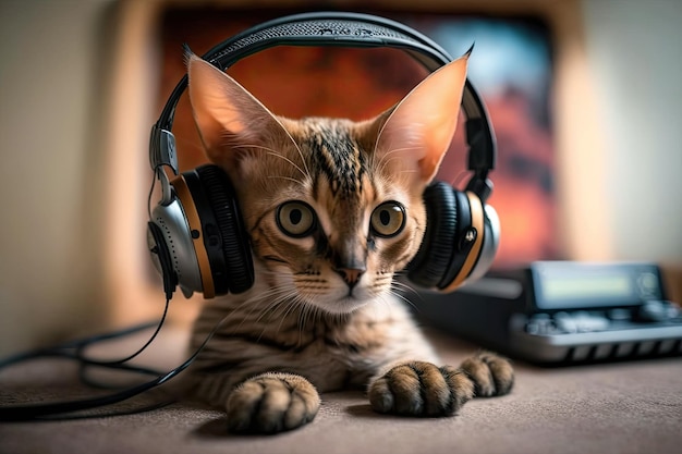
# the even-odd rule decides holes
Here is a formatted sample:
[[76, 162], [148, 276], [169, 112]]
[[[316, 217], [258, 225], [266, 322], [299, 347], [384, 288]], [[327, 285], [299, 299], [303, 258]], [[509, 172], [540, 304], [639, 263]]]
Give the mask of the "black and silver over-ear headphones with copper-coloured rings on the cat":
[[[368, 14], [304, 13], [252, 27], [220, 42], [203, 59], [224, 71], [240, 59], [275, 46], [390, 47], [402, 49], [433, 72], [452, 59], [437, 44], [400, 23]], [[147, 229], [149, 251], [170, 299], [176, 286], [190, 297], [241, 293], [254, 283], [249, 238], [234, 188], [217, 165], [178, 172], [171, 133], [175, 107], [187, 87], [175, 86], [151, 127], [149, 160], [161, 184], [161, 199]], [[467, 167], [473, 175], [464, 191], [434, 182], [424, 192], [427, 226], [407, 278], [421, 287], [451, 292], [482, 277], [499, 245], [500, 223], [486, 205], [492, 192], [495, 136], [483, 100], [467, 79], [462, 97], [466, 116]], [[170, 168], [172, 181], [163, 168]]]

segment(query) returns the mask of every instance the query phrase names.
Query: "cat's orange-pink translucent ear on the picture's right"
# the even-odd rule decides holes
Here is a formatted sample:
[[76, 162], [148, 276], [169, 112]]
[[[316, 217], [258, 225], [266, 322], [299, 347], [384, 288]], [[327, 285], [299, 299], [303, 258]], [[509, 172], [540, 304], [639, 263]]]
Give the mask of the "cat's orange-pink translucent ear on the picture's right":
[[431, 73], [376, 120], [383, 124], [375, 154], [391, 172], [412, 173], [423, 185], [436, 175], [456, 130], [470, 53]]

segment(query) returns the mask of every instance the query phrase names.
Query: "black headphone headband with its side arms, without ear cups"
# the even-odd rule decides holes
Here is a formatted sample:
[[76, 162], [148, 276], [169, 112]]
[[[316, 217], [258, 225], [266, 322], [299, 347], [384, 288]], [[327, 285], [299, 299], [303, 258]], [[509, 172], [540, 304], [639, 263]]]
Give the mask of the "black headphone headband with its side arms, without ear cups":
[[[403, 24], [369, 14], [340, 12], [294, 14], [256, 25], [215, 46], [203, 59], [224, 71], [245, 57], [277, 46], [402, 49], [430, 72], [452, 60], [431, 39]], [[149, 160], [154, 170], [168, 165], [178, 173], [174, 138], [170, 130], [175, 107], [186, 86], [187, 76], [184, 75], [151, 128]], [[474, 192], [485, 203], [492, 189], [487, 176], [495, 168], [495, 135], [484, 103], [468, 79], [462, 96], [462, 110], [466, 115], [467, 167], [474, 172], [466, 191]]]

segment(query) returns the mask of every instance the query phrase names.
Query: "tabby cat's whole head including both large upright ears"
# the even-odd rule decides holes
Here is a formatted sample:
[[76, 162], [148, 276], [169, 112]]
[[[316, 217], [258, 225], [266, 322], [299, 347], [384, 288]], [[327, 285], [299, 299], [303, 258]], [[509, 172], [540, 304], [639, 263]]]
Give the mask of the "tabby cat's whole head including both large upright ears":
[[422, 201], [456, 126], [466, 59], [366, 122], [272, 115], [195, 56], [190, 96], [230, 175], [273, 298], [346, 314], [390, 292], [426, 229]]

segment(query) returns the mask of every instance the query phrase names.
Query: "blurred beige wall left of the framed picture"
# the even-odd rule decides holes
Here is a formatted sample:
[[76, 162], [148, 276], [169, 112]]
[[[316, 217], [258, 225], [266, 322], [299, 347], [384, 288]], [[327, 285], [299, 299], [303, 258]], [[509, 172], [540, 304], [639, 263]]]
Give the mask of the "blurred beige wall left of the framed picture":
[[0, 2], [0, 353], [101, 318], [107, 1]]

